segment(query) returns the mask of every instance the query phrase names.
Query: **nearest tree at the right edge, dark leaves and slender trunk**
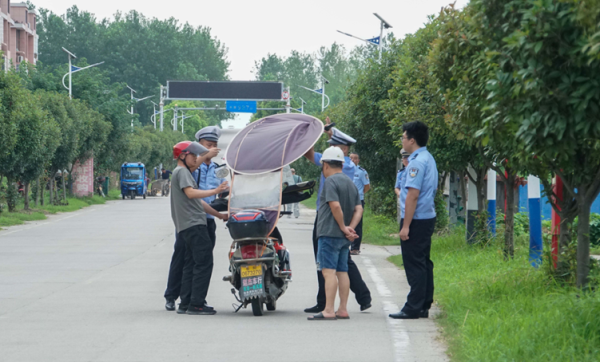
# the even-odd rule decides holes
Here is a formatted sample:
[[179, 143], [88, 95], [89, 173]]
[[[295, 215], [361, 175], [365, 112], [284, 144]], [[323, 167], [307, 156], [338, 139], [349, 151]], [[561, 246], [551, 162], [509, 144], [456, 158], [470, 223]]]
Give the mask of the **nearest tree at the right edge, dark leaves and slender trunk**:
[[598, 24], [599, 13], [582, 19], [576, 0], [502, 4], [510, 35], [489, 83], [499, 110], [489, 122], [516, 128], [522, 157], [560, 176], [577, 202], [577, 285], [584, 287], [590, 208], [600, 192], [600, 59], [587, 51], [596, 31], [588, 24]]

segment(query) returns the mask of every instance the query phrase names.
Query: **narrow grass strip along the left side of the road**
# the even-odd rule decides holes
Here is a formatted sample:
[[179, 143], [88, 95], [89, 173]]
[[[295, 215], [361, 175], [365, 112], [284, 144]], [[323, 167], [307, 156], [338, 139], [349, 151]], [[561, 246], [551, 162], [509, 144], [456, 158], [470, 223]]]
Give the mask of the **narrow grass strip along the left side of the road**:
[[31, 210], [23, 210], [23, 199], [19, 199], [16, 212], [4, 211], [0, 214], [0, 227], [21, 225], [26, 221], [45, 220], [47, 214], [56, 214], [57, 212], [77, 211], [90, 205], [104, 204], [108, 200], [117, 200], [121, 195], [118, 189], [110, 190], [108, 196], [103, 198], [97, 195], [92, 197], [68, 197], [68, 205], [49, 205], [50, 200], [46, 197], [44, 205], [33, 206], [30, 203]]

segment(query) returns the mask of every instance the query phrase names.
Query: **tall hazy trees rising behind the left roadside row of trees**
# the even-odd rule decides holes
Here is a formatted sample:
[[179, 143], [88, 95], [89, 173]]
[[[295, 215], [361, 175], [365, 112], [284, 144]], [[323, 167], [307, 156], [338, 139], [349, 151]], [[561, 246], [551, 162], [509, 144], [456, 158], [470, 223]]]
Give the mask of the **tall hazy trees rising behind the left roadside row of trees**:
[[[89, 63], [104, 61], [100, 67], [107, 71], [110, 83], [127, 83], [138, 98], [154, 95], [157, 103], [159, 84], [166, 85], [167, 80], [227, 79], [227, 50], [209, 28], [180, 24], [173, 18], [149, 19], [137, 11], [116, 13], [112, 20], [96, 19], [76, 6], [62, 16], [47, 9], [39, 12], [40, 61], [60, 69], [60, 78], [67, 71], [61, 50], [65, 47], [77, 55], [77, 65], [84, 65], [83, 58]], [[76, 73], [74, 82], [89, 71]], [[152, 109], [149, 101], [136, 105], [143, 125], [150, 122]], [[208, 123], [218, 124], [226, 116], [224, 111], [212, 112], [207, 114]]]

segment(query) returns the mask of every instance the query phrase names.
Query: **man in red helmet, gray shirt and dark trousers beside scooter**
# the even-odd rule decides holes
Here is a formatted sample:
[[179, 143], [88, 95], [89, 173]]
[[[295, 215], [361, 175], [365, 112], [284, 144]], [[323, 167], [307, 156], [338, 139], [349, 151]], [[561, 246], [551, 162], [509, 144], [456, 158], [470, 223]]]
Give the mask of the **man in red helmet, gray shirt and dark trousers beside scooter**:
[[227, 219], [208, 206], [202, 198], [227, 190], [223, 182], [213, 190], [199, 190], [192, 172], [200, 166], [208, 150], [198, 142], [180, 142], [173, 147], [177, 168], [171, 180], [171, 216], [178, 237], [185, 244], [185, 263], [181, 280], [181, 303], [177, 313], [213, 315], [217, 312], [206, 304], [206, 294], [213, 269], [213, 244], [206, 227], [206, 211]]

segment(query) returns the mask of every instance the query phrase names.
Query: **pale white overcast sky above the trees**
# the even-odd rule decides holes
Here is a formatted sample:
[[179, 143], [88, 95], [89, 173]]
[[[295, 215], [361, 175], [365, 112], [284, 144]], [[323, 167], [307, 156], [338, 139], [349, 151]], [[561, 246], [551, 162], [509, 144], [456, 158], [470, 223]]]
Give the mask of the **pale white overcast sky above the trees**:
[[[254, 80], [254, 62], [275, 53], [287, 56], [292, 50], [315, 53], [334, 42], [346, 49], [360, 40], [338, 33], [341, 30], [360, 38], [379, 35], [378, 13], [390, 25], [397, 38], [414, 33], [451, 0], [32, 0], [37, 8], [64, 14], [76, 5], [95, 14], [97, 19], [112, 18], [117, 11], [137, 10], [150, 18], [178, 19], [181, 23], [211, 28], [211, 33], [228, 49], [231, 80]], [[456, 0], [464, 6], [468, 0]], [[385, 35], [384, 30], [384, 35]], [[233, 124], [243, 126], [250, 118], [241, 114]]]

